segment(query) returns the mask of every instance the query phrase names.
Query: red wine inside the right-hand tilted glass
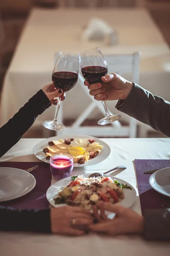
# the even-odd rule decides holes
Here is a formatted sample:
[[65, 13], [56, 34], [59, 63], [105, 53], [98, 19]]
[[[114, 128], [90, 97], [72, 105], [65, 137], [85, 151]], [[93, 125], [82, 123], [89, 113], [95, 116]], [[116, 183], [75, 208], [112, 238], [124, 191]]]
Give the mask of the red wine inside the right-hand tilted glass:
[[85, 80], [87, 80], [90, 84], [101, 83], [101, 77], [107, 75], [108, 73], [107, 67], [100, 66], [82, 67], [81, 71]]

